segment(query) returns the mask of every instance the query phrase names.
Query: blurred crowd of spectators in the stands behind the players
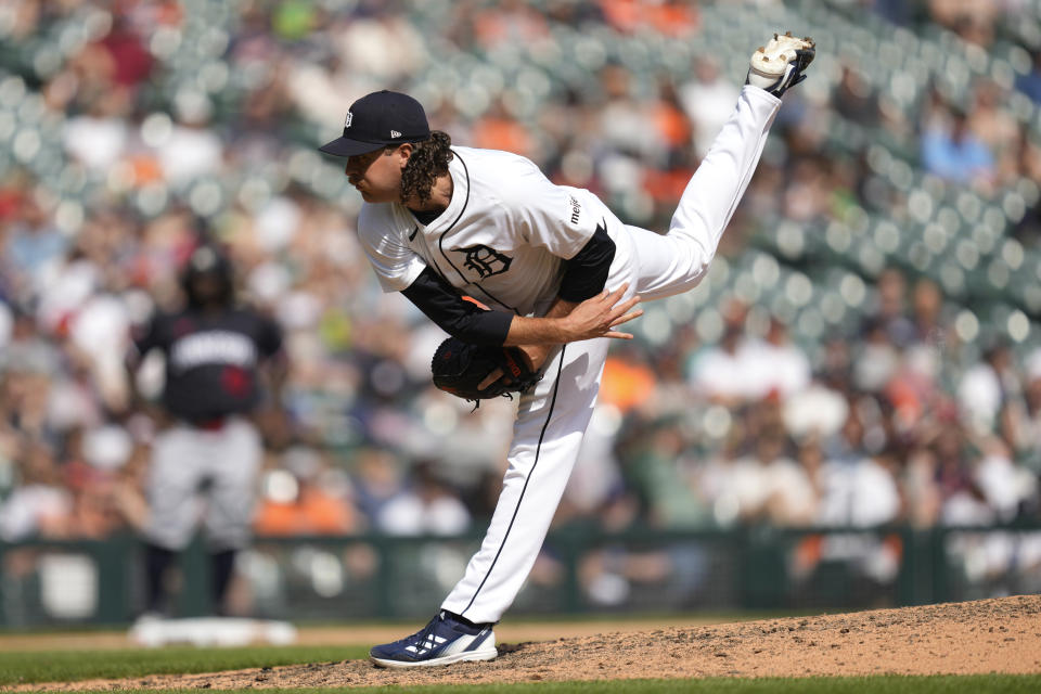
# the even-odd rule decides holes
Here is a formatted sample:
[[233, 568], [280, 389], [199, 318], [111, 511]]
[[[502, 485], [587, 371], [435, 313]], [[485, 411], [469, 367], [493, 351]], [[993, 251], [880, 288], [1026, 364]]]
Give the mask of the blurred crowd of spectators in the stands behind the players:
[[[286, 333], [284, 401], [257, 414], [267, 436], [257, 532], [478, 528], [493, 509], [512, 404], [470, 412], [433, 389], [442, 334], [381, 294], [355, 239], [360, 200], [316, 145], [358, 97], [402, 89], [454, 142], [524, 154], [631, 223], [665, 229], [735, 103], [744, 72], [732, 67], [757, 46], [731, 40], [721, 17], [737, 13], [762, 35], [799, 7], [750, 4], [3, 3], [0, 539], [102, 538], [147, 517], [141, 480], [160, 424], [129, 403], [131, 388], [156, 398], [162, 364], [131, 383], [123, 359], [133, 326], [179, 299], [178, 268], [202, 239], [229, 250], [240, 296]], [[1013, 107], [1041, 101], [1041, 37], [1023, 26], [1037, 17], [1017, 18], [1025, 3], [813, 4], [815, 21], [834, 15], [836, 27], [864, 18], [915, 40], [940, 36], [969, 63], [1011, 47], [1014, 72], [927, 75], [904, 103], [878, 83], [877, 56], [822, 50], [785, 98], [720, 272], [773, 249], [781, 220], [905, 216], [899, 177], [834, 142], [839, 127], [891, 144], [937, 190], [985, 202], [1017, 191], [1023, 209], [998, 231], [1018, 244], [1020, 264], [1038, 250], [1041, 140]], [[733, 55], [701, 50], [718, 37]], [[773, 274], [823, 277], [770, 254]], [[691, 314], [666, 303], [641, 319], [639, 339], [609, 359], [560, 522], [1038, 518], [1041, 343], [1030, 307], [988, 322], [972, 294], [951, 296], [929, 271], [884, 264], [856, 274], [844, 297], [859, 293], [858, 311], [817, 334], [719, 273], [706, 282], [711, 306]]]

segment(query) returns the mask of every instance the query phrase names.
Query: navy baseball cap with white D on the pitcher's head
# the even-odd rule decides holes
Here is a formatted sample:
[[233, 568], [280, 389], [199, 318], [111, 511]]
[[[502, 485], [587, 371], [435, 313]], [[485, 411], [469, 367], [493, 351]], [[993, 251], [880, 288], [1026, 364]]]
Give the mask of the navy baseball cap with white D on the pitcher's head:
[[388, 144], [429, 139], [430, 126], [420, 102], [408, 94], [384, 89], [352, 103], [344, 123], [344, 137], [323, 144], [319, 151], [333, 156], [355, 156]]

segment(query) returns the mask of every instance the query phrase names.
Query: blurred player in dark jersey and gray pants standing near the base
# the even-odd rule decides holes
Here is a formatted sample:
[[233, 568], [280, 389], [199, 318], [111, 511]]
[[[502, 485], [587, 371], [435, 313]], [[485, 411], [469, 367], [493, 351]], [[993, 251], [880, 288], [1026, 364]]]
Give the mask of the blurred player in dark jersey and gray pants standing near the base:
[[167, 569], [192, 539], [201, 512], [213, 604], [223, 614], [235, 553], [249, 541], [264, 452], [245, 415], [262, 398], [261, 364], [275, 402], [285, 373], [279, 326], [235, 304], [231, 265], [217, 248], [196, 248], [181, 283], [183, 309], [153, 317], [127, 358], [131, 374], [153, 349], [166, 359], [163, 407], [172, 421], [155, 438], [146, 481], [145, 614], [156, 616], [168, 607]]

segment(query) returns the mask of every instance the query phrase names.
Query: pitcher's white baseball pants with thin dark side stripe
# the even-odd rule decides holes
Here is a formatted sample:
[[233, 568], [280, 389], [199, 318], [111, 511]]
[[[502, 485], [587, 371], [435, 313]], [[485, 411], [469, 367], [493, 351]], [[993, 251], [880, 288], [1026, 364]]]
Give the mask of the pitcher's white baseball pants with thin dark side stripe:
[[[609, 288], [629, 283], [641, 299], [697, 285], [748, 187], [781, 100], [745, 87], [737, 107], [657, 234], [628, 227], [597, 198], [589, 201], [615, 242]], [[474, 622], [499, 621], [542, 548], [578, 457], [600, 390], [608, 338], [565, 345], [545, 377], [520, 398], [502, 493], [480, 549], [441, 604]]]

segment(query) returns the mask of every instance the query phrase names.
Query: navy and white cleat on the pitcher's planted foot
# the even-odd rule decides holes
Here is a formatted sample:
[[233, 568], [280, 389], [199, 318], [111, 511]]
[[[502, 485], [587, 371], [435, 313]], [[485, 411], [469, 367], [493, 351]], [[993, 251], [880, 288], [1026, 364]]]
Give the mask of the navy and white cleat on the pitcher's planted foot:
[[383, 668], [416, 668], [467, 660], [491, 660], [496, 651], [492, 625], [470, 626], [441, 612], [421, 630], [394, 643], [373, 646], [369, 659]]

